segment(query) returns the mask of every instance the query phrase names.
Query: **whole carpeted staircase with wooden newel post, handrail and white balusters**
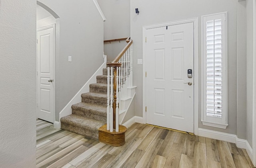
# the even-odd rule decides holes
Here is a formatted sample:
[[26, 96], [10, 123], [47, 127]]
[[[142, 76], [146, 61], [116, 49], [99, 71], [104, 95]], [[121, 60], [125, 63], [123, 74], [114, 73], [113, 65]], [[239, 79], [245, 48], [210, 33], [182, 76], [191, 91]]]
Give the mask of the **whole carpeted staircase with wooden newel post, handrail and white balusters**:
[[[104, 64], [95, 73], [100, 74], [103, 65], [107, 68], [103, 68], [102, 75], [95, 75], [96, 83], [89, 85], [90, 92], [84, 90], [86, 83], [62, 109], [60, 115], [65, 116], [60, 118], [62, 129], [115, 147], [124, 145], [127, 128], [120, 123], [123, 122], [130, 106], [126, 104], [132, 101], [136, 89], [136, 86], [132, 85], [132, 40], [130, 37], [126, 39], [126, 43], [127, 45], [114, 61], [106, 63], [106, 57], [104, 57]], [[131, 93], [133, 96], [129, 97]], [[82, 102], [80, 102], [80, 94]], [[71, 104], [73, 104], [72, 112]], [[120, 116], [121, 120], [119, 120]]]

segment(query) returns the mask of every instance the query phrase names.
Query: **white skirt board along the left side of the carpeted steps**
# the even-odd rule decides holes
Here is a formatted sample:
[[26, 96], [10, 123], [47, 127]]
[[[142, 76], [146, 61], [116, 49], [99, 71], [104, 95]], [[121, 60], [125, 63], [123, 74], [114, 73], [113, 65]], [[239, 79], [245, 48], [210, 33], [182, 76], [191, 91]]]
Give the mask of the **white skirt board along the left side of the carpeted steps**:
[[62, 117], [65, 117], [67, 115], [72, 114], [72, 108], [71, 106], [73, 104], [77, 104], [81, 102], [81, 94], [83, 93], [87, 93], [90, 92], [90, 84], [96, 83], [96, 76], [101, 75], [102, 74], [102, 70], [103, 68], [106, 67], [106, 63], [107, 63], [107, 56], [103, 55], [104, 58], [104, 63], [100, 66], [100, 68], [98, 68], [98, 70], [96, 70], [96, 72], [92, 75], [92, 77], [86, 82], [86, 84], [84, 84], [84, 86], [76, 93], [76, 95], [70, 100], [70, 102], [68, 102], [68, 104], [60, 111], [60, 115], [59, 115], [59, 121], [55, 121], [54, 122], [54, 128], [56, 129], [60, 129], [61, 128], [61, 123], [60, 123], [60, 119]]

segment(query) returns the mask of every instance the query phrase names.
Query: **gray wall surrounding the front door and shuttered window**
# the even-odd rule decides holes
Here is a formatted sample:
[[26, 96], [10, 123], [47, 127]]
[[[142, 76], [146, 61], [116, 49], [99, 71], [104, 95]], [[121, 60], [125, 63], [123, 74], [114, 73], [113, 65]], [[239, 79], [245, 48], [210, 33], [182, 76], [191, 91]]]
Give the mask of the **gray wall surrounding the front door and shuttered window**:
[[[139, 8], [140, 14], [134, 12]], [[142, 26], [167, 21], [183, 20], [198, 17], [199, 33], [199, 70], [201, 70], [201, 16], [218, 12], [228, 12], [228, 127], [218, 129], [202, 125], [201, 122], [201, 84], [199, 84], [199, 127], [237, 134], [237, 1], [234, 0], [131, 0], [131, 38], [134, 40], [134, 85], [137, 86], [135, 98], [135, 111], [137, 116], [142, 116], [142, 65], [137, 65], [137, 59], [142, 59]], [[201, 71], [199, 74], [201, 83]], [[245, 123], [245, 121], [239, 121]]]

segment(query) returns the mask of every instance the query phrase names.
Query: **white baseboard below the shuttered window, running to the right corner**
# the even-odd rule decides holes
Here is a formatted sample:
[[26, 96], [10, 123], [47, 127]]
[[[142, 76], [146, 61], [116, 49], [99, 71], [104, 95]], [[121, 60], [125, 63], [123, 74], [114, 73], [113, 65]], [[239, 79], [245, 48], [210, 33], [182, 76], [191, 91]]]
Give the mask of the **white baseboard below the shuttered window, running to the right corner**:
[[244, 139], [239, 139], [234, 134], [222, 133], [222, 132], [218, 132], [218, 131], [212, 131], [209, 129], [199, 128], [198, 135], [202, 136], [202, 137], [207, 137], [207, 138], [217, 139], [217, 140], [226, 141], [226, 142], [230, 142], [230, 143], [235, 143], [238, 148], [246, 149], [248, 155], [252, 159], [252, 147], [250, 147], [248, 141], [244, 140]]

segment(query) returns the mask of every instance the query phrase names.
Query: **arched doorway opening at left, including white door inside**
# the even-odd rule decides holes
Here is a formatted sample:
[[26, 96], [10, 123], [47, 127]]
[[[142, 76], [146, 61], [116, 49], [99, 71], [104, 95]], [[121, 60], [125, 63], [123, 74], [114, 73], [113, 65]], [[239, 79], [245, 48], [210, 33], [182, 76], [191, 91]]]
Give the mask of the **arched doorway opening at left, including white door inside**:
[[37, 1], [37, 118], [55, 121], [55, 57], [59, 49], [59, 16]]

